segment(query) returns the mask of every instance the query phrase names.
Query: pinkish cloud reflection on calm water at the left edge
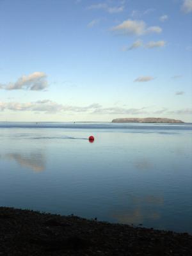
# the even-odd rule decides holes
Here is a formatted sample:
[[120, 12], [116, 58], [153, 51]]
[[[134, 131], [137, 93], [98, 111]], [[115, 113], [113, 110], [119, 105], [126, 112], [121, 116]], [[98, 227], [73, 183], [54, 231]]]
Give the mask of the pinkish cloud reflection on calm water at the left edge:
[[6, 159], [15, 160], [20, 166], [27, 167], [34, 172], [45, 170], [45, 156], [42, 153], [31, 153], [29, 155], [10, 153], [5, 155]]

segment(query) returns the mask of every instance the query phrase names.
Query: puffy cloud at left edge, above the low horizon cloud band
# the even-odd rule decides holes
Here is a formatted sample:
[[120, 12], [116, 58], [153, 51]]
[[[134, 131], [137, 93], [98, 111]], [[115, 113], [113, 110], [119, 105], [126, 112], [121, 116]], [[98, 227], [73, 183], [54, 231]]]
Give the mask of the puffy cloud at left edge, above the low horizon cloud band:
[[34, 72], [28, 76], [19, 77], [15, 83], [0, 84], [0, 89], [40, 91], [47, 86], [47, 75], [44, 72]]

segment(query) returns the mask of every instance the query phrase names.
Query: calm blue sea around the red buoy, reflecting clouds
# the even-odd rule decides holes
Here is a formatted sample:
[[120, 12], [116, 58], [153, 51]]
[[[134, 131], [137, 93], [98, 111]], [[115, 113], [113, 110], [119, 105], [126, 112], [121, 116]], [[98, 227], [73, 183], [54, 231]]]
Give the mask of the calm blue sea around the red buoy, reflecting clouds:
[[192, 124], [0, 122], [0, 206], [192, 234]]

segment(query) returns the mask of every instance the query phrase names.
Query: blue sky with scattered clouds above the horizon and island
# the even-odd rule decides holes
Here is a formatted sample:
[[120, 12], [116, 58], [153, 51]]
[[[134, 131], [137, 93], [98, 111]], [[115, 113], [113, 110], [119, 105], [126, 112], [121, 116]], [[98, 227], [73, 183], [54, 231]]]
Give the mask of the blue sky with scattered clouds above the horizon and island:
[[192, 122], [192, 0], [0, 0], [0, 121]]

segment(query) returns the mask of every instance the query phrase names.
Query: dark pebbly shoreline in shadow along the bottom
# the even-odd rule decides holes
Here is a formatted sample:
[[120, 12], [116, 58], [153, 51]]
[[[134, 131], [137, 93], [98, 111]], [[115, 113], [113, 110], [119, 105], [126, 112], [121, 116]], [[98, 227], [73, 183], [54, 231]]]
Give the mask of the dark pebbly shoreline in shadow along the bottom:
[[0, 207], [0, 255], [191, 255], [188, 233]]

